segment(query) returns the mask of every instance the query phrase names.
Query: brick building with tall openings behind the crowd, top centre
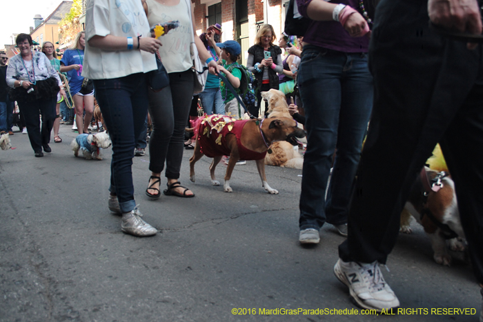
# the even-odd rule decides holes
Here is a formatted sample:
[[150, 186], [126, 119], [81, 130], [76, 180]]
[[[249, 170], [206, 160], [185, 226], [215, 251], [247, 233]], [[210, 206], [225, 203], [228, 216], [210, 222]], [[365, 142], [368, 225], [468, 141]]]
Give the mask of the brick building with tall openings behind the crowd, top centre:
[[288, 0], [192, 0], [197, 34], [219, 23], [222, 40], [234, 39], [242, 45], [242, 63], [253, 46], [259, 26], [270, 23], [279, 39], [284, 30]]

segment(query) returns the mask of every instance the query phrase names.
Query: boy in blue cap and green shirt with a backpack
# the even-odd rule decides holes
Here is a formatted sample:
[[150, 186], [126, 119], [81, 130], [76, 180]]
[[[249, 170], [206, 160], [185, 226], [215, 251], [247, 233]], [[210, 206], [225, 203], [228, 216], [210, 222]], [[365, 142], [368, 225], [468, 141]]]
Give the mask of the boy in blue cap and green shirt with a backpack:
[[[242, 47], [240, 47], [239, 43], [234, 40], [228, 40], [224, 43], [217, 43], [217, 46], [221, 48], [221, 59], [223, 62], [223, 66], [221, 66], [219, 70], [226, 75], [226, 79], [228, 79], [235, 90], [237, 90], [240, 87], [242, 70], [239, 68], [233, 68], [232, 66], [238, 65], [237, 59], [239, 54], [242, 52]], [[226, 86], [224, 81], [221, 81], [221, 79], [219, 87], [221, 90], [221, 98], [225, 103], [226, 114], [230, 115], [231, 117], [235, 117], [235, 119], [242, 119], [245, 111], [243, 107], [239, 105], [239, 102], [233, 92], [230, 91], [230, 89]], [[237, 90], [237, 94], [239, 94], [239, 90]]]

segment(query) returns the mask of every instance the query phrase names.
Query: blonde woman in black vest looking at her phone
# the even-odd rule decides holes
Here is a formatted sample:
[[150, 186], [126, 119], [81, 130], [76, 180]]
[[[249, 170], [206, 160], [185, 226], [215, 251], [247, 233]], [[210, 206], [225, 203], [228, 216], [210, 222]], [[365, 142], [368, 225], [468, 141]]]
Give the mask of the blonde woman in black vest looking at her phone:
[[[255, 74], [258, 81], [257, 101], [258, 105], [250, 108], [250, 113], [258, 117], [259, 108], [262, 103], [262, 91], [270, 90], [270, 88], [279, 88], [278, 75], [284, 72], [282, 66], [282, 50], [273, 42], [277, 40], [275, 31], [271, 25], [265, 24], [260, 27], [255, 37], [255, 45], [248, 49], [248, 59], [246, 67], [250, 72]], [[268, 52], [268, 54], [265, 54]], [[265, 56], [267, 55], [267, 56]]]

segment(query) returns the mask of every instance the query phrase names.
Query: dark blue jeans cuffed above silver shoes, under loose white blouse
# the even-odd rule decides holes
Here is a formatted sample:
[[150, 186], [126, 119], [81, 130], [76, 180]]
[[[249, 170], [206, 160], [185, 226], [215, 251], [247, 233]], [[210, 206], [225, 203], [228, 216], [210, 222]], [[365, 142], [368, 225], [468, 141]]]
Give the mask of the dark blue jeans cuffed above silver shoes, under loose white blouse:
[[95, 79], [96, 99], [112, 141], [110, 192], [117, 194], [121, 212], [136, 207], [132, 158], [148, 112], [148, 84], [143, 73], [117, 79]]

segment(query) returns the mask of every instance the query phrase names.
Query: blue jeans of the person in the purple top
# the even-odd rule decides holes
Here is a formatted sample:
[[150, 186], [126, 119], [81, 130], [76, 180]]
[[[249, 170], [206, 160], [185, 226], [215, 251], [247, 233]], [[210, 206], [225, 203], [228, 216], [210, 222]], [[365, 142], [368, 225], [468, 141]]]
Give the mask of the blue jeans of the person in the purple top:
[[[373, 78], [366, 54], [315, 46], [304, 47], [297, 78], [307, 130], [299, 227], [319, 230], [326, 221], [333, 225], [347, 222], [373, 105]], [[331, 183], [324, 199], [331, 167]]]

